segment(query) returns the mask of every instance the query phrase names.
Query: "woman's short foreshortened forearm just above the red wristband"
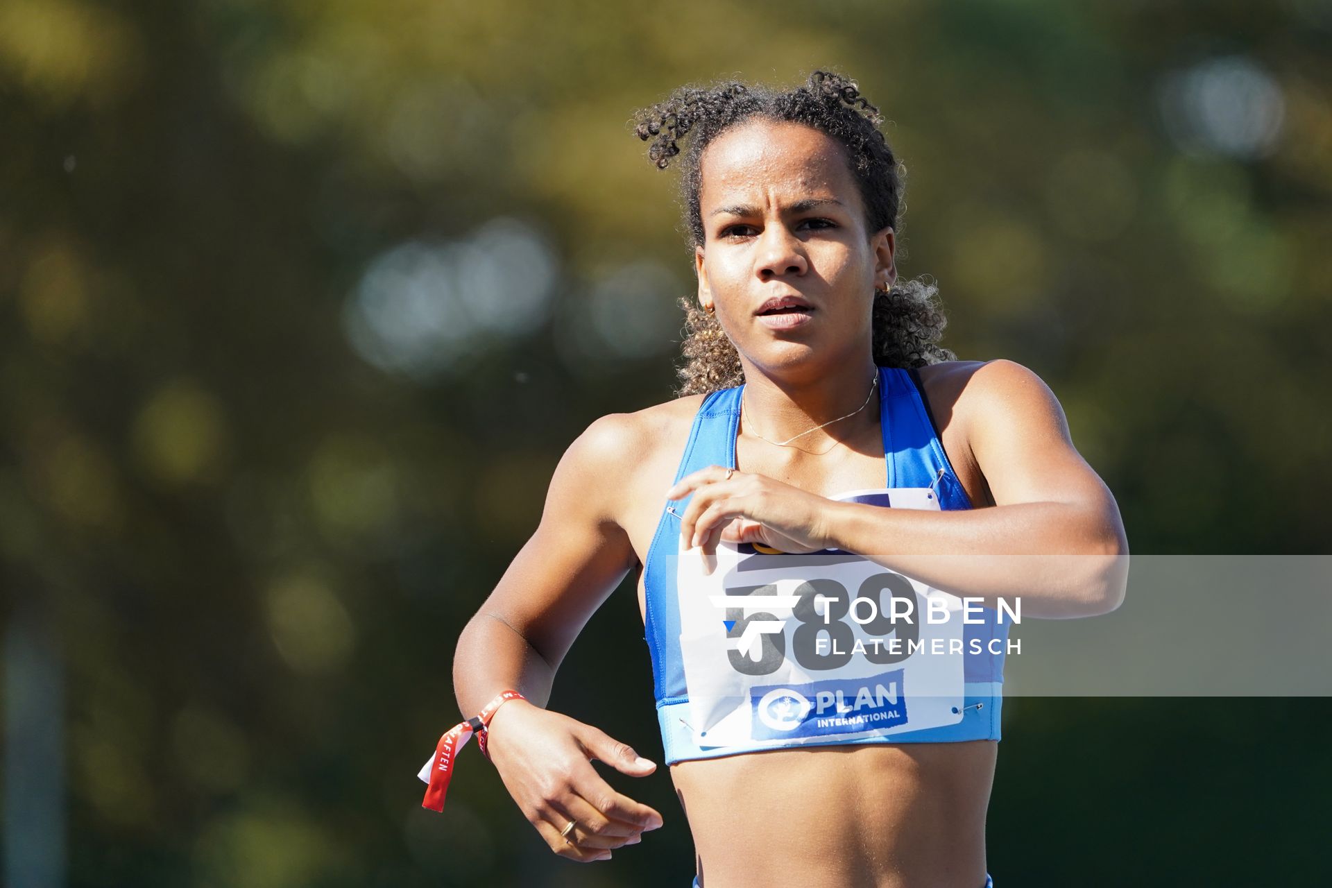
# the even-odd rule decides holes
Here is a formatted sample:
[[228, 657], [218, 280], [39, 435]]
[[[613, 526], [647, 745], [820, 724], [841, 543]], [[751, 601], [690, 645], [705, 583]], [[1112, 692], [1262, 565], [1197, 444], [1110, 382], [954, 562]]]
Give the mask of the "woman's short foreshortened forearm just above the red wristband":
[[507, 688], [545, 708], [554, 679], [550, 663], [494, 614], [477, 614], [458, 636], [453, 656], [453, 691], [465, 719], [477, 715], [481, 707]]

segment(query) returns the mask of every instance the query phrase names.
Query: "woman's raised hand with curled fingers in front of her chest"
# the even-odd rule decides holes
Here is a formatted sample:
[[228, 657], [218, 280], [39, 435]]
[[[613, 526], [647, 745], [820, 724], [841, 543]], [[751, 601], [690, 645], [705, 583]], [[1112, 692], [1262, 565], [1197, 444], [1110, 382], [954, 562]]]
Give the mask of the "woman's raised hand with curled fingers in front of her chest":
[[767, 475], [745, 471], [726, 478], [725, 466], [707, 466], [685, 475], [666, 491], [667, 499], [694, 498], [679, 522], [689, 546], [702, 546], [711, 560], [718, 541], [761, 543], [783, 553], [827, 549], [827, 509], [831, 501]]

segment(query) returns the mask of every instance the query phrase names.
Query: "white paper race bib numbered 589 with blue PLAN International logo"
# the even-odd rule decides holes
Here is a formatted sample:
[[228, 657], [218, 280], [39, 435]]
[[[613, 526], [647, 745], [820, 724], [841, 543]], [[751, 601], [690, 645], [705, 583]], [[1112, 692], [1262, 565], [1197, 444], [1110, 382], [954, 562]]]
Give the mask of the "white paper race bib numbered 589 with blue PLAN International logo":
[[[836, 499], [867, 494], [886, 494], [895, 509], [939, 509], [928, 487]], [[711, 572], [701, 549], [681, 549], [677, 580], [701, 747], [826, 743], [962, 720], [955, 595], [840, 550], [790, 555], [725, 541]]]

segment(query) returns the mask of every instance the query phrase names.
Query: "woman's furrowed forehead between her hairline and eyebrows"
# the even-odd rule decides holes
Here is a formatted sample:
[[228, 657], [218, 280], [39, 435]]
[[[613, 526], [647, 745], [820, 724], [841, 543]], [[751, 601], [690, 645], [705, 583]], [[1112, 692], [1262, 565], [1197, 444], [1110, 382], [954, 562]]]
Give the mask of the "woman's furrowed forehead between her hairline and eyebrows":
[[829, 193], [855, 200], [846, 152], [830, 136], [786, 121], [754, 120], [714, 138], [701, 158], [699, 202], [730, 201], [739, 193]]

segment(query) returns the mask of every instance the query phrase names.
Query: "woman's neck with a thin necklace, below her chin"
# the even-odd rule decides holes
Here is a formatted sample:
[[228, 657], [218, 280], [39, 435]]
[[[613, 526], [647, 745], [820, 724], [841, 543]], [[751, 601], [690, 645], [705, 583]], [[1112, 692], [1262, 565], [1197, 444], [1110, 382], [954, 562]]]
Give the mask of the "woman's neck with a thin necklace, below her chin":
[[[745, 421], [749, 431], [771, 441], [786, 441], [830, 419], [844, 417], [825, 429], [797, 438], [793, 446], [811, 447], [821, 441], [844, 441], [867, 426], [879, 425], [878, 367], [870, 355], [836, 361], [832, 366], [797, 374], [770, 374], [745, 362]], [[874, 394], [871, 395], [871, 390]], [[866, 403], [868, 399], [868, 403]]]

